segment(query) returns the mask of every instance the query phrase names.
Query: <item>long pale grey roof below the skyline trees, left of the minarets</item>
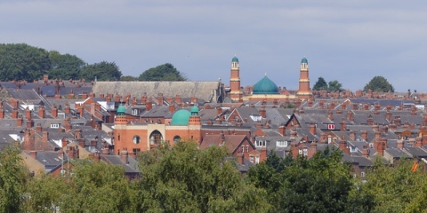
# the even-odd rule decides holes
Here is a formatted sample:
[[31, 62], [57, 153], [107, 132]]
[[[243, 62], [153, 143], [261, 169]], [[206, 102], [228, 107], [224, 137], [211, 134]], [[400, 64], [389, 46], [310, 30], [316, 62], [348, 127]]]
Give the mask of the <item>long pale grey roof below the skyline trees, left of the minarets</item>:
[[197, 97], [198, 101], [216, 102], [217, 90], [221, 82], [96, 82], [93, 85], [93, 93], [109, 94], [131, 94], [131, 96], [141, 97], [146, 92], [148, 97], [157, 97], [158, 93], [163, 93], [164, 97], [175, 97], [177, 94], [181, 98]]

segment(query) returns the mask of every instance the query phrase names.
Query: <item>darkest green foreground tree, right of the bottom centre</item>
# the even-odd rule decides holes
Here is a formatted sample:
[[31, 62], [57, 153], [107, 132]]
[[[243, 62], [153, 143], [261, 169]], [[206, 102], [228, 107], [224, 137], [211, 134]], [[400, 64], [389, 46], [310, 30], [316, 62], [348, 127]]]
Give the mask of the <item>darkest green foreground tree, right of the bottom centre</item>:
[[258, 164], [248, 172], [257, 187], [267, 191], [271, 212], [342, 212], [350, 192], [350, 168], [338, 150], [319, 152], [309, 161], [290, 156]]

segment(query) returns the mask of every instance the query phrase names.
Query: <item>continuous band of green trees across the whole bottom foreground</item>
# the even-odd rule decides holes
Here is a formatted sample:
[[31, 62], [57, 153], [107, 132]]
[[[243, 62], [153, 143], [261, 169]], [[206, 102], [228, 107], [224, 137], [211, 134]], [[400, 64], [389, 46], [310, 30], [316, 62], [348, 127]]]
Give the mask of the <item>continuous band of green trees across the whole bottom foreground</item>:
[[139, 157], [141, 176], [124, 168], [75, 161], [64, 176], [30, 177], [20, 149], [0, 152], [0, 212], [425, 212], [427, 179], [377, 161], [366, 182], [350, 176], [339, 150], [266, 162], [246, 175], [224, 147], [177, 143]]

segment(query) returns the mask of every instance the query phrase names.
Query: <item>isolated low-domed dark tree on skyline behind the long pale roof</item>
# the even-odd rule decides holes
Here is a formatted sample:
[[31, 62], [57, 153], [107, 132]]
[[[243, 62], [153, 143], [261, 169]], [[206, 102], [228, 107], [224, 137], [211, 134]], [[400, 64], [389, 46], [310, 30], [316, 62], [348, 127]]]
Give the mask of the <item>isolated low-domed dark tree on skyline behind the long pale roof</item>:
[[187, 81], [187, 78], [170, 63], [149, 68], [140, 75], [139, 79], [140, 81]]

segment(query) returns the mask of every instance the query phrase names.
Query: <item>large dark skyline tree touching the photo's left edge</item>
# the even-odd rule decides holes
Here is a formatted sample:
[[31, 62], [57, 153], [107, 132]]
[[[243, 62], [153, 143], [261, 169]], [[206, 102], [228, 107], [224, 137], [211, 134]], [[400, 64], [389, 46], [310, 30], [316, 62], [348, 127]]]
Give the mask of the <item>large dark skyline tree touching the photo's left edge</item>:
[[26, 43], [0, 44], [0, 80], [41, 79], [50, 69], [49, 52]]

